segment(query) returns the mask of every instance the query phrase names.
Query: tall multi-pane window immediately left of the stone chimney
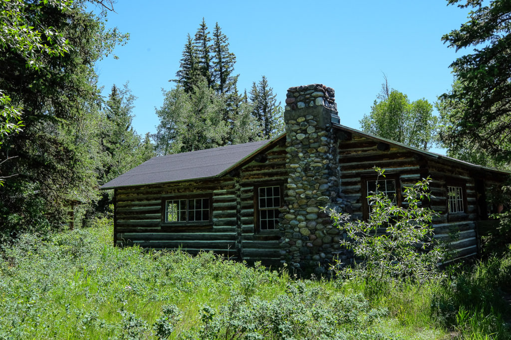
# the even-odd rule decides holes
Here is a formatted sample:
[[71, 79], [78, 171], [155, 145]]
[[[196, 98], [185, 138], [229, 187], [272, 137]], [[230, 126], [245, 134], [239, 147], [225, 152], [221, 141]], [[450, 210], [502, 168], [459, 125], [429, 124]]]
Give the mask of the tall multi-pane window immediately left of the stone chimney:
[[281, 187], [278, 185], [258, 188], [259, 230], [273, 230], [278, 225], [281, 207]]

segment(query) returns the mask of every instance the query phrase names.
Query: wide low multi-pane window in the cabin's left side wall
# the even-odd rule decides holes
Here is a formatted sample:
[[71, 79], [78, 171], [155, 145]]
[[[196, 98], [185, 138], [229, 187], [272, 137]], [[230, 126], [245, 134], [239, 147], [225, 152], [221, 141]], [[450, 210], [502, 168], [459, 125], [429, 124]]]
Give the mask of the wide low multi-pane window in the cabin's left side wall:
[[210, 199], [178, 199], [165, 201], [165, 222], [210, 221]]

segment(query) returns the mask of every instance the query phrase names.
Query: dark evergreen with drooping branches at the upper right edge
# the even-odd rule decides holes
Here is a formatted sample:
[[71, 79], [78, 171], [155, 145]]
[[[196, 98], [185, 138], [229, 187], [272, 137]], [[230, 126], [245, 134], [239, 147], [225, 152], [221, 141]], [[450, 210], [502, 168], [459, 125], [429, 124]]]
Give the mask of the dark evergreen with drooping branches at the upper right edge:
[[450, 65], [455, 82], [439, 97], [447, 120], [440, 137], [450, 151], [483, 151], [489, 164], [511, 164], [511, 2], [448, 4], [472, 10], [469, 21], [442, 37], [456, 52], [469, 48], [469, 53]]

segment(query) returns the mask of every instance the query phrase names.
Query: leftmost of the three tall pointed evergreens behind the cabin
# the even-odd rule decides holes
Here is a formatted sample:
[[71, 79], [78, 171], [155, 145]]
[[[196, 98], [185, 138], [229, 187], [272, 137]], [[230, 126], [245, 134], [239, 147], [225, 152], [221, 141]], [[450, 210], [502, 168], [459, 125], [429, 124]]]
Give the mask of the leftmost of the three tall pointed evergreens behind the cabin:
[[194, 42], [188, 34], [187, 43], [184, 44], [179, 70], [176, 72], [176, 82], [182, 86], [187, 93], [192, 92], [200, 78], [200, 65]]

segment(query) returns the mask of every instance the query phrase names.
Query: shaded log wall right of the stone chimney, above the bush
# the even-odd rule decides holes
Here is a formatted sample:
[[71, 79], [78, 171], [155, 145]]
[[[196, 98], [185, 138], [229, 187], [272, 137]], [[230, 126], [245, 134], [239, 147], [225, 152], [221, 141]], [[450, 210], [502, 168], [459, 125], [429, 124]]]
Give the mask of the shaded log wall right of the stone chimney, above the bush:
[[[380, 148], [385, 149], [384, 146]], [[399, 174], [401, 195], [404, 187], [411, 186], [421, 178], [430, 176], [430, 189], [434, 198], [429, 207], [439, 212], [433, 225], [435, 237], [448, 241], [455, 251], [454, 258], [474, 256], [478, 253], [478, 237], [475, 221], [480, 219], [478, 198], [481, 192], [476, 192], [477, 175], [468, 167], [452, 162], [426, 159], [424, 156], [389, 145], [387, 151], [379, 150], [379, 142], [353, 135], [348, 140], [339, 142], [339, 166], [341, 173], [341, 197], [351, 202], [354, 218], [364, 218], [363, 200], [366, 193], [362, 192], [362, 181], [365, 175], [376, 172], [373, 166], [385, 169], [385, 174]], [[463, 183], [466, 187], [466, 211], [463, 213], [447, 213], [448, 181]], [[484, 187], [484, 185], [483, 185]], [[479, 191], [483, 191], [484, 189]], [[465, 195], [465, 193], [463, 194]], [[402, 203], [406, 205], [405, 202]], [[484, 203], [482, 203], [484, 205]]]

